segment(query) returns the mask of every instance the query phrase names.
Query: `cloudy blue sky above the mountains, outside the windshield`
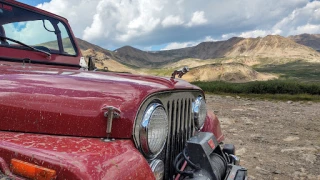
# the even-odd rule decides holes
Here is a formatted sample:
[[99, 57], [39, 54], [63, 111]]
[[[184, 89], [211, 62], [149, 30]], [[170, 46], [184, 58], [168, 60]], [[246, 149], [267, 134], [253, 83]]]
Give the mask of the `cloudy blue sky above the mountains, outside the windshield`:
[[320, 34], [320, 0], [18, 0], [107, 49], [176, 49], [233, 36]]

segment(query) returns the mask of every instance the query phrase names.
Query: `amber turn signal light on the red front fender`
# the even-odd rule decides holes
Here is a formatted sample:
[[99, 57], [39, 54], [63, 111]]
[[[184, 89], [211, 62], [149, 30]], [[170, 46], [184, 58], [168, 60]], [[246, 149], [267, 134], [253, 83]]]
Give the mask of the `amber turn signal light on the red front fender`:
[[34, 180], [54, 180], [56, 171], [45, 167], [37, 166], [28, 162], [11, 159], [12, 173]]

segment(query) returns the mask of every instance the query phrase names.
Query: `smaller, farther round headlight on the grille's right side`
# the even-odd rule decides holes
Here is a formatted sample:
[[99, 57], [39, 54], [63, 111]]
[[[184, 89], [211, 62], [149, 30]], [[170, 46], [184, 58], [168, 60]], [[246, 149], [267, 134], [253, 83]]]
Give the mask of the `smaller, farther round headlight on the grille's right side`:
[[200, 130], [203, 125], [204, 121], [207, 117], [207, 108], [206, 108], [206, 102], [204, 101], [204, 98], [199, 96], [194, 103], [192, 104], [192, 110], [194, 114], [194, 123], [198, 130]]

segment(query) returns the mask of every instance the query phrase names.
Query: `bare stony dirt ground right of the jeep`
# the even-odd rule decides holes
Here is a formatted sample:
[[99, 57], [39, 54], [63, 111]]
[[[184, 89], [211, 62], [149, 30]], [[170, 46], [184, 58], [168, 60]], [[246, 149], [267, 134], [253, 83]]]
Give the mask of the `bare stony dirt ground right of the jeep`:
[[206, 99], [250, 179], [320, 180], [320, 103]]

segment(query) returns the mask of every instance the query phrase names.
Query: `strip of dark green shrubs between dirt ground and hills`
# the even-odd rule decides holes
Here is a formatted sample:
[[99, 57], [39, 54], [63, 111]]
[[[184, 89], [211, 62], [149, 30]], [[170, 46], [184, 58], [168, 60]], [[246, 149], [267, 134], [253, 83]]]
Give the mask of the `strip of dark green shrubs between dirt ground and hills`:
[[320, 83], [307, 83], [294, 80], [254, 81], [228, 83], [223, 81], [192, 82], [206, 92], [231, 94], [309, 94], [320, 95]]

